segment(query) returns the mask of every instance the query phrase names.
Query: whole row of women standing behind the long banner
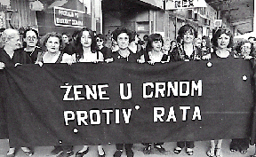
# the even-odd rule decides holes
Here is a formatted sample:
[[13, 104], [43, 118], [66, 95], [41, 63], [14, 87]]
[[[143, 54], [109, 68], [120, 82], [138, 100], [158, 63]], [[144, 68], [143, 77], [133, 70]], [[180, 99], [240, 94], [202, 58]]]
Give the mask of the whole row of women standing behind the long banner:
[[[48, 33], [40, 37], [33, 28], [24, 31], [22, 43], [18, 30], [5, 29], [1, 36], [0, 69], [3, 72], [6, 66], [19, 66], [20, 64], [38, 64], [42, 67], [47, 63], [67, 63], [68, 65], [77, 62], [118, 62], [138, 63], [154, 66], [156, 63], [172, 63], [176, 61], [193, 61], [200, 59], [232, 59], [244, 58], [254, 59], [255, 37], [248, 41], [236, 43], [234, 46], [233, 35], [227, 29], [218, 29], [212, 39], [208, 36], [197, 37], [195, 27], [188, 24], [180, 27], [177, 40], [163, 38], [160, 34], [140, 35], [125, 27], [118, 27], [111, 35], [96, 34], [90, 28], [84, 27], [73, 35], [68, 33]], [[0, 72], [1, 72], [0, 71]], [[1, 72], [1, 73], [2, 73]], [[3, 73], [1, 74], [3, 75]], [[0, 75], [0, 77], [1, 77]], [[2, 87], [3, 88], [3, 87]], [[1, 89], [3, 90], [3, 89]], [[0, 101], [4, 102], [4, 92], [1, 92]], [[2, 103], [3, 104], [3, 103]], [[221, 157], [222, 139], [212, 139], [209, 150], [206, 154], [209, 157]], [[152, 145], [160, 153], [164, 153], [164, 143], [143, 143], [143, 153], [149, 154]], [[114, 157], [120, 157], [124, 153], [127, 157], [133, 157], [133, 144], [116, 144]], [[179, 141], [173, 149], [174, 153], [180, 153], [183, 148], [188, 155], [193, 155], [194, 141]], [[249, 138], [232, 139], [230, 151], [247, 153]], [[33, 155], [29, 147], [21, 147], [28, 156]], [[76, 157], [83, 157], [89, 152], [89, 146], [84, 145], [76, 152]], [[104, 157], [105, 151], [102, 145], [98, 145], [99, 157]], [[74, 154], [73, 146], [55, 145], [52, 154], [71, 156]], [[15, 148], [10, 148], [8, 157], [15, 156]], [[256, 153], [253, 154], [256, 157]]]

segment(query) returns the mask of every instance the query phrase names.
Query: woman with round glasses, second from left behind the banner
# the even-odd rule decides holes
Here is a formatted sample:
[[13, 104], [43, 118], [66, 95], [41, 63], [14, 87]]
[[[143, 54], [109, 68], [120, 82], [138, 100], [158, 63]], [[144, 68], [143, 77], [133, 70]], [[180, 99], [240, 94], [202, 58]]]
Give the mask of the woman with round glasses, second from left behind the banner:
[[24, 51], [28, 53], [33, 63], [36, 63], [38, 52], [42, 49], [38, 46], [38, 32], [33, 28], [28, 28], [24, 31]]

